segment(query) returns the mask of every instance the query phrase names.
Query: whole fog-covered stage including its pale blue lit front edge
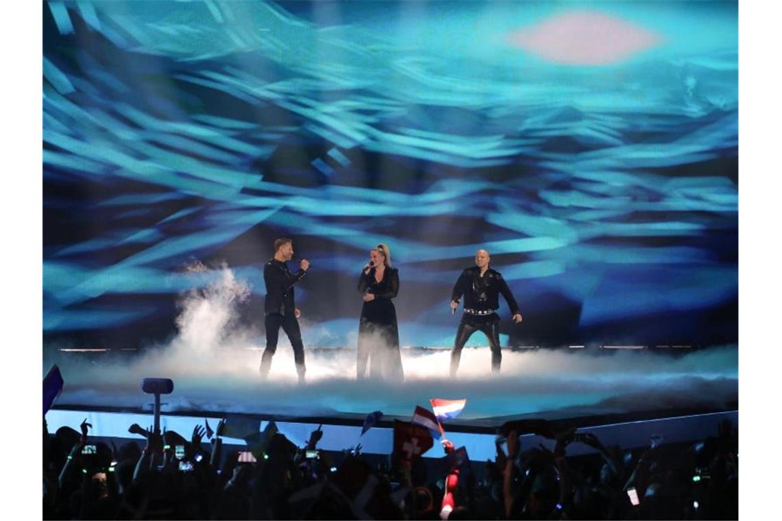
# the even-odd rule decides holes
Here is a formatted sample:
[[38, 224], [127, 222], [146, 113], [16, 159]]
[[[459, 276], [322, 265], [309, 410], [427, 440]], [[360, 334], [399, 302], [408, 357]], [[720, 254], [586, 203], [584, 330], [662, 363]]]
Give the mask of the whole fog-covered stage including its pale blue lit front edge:
[[[626, 447], [647, 443], [651, 434], [701, 439], [723, 419], [737, 423], [735, 345], [504, 349], [499, 375], [490, 373], [488, 348], [465, 348], [455, 380], [447, 376], [447, 349], [403, 348], [404, 382], [355, 380], [355, 356], [351, 349], [307, 350], [307, 383], [300, 385], [287, 345], [278, 348], [266, 381], [253, 341], [199, 350], [174, 342], [145, 352], [56, 351], [45, 367], [57, 363], [65, 386], [47, 419], [54, 430], [88, 417], [95, 436], [130, 437], [131, 423], [151, 423], [152, 397], [140, 382], [156, 376], [174, 380], [174, 392], [163, 396], [161, 425], [169, 430], [188, 435], [204, 418], [214, 426], [225, 416], [257, 419], [262, 429], [274, 419], [303, 444], [322, 423], [325, 450], [361, 443], [367, 453], [387, 454], [393, 419], [409, 420], [429, 398], [467, 398], [464, 412], [446, 424], [447, 436], [483, 460], [493, 457], [493, 436], [509, 419], [549, 419]], [[361, 436], [364, 417], [376, 410], [382, 421]], [[441, 452], [436, 446], [427, 455]]]

